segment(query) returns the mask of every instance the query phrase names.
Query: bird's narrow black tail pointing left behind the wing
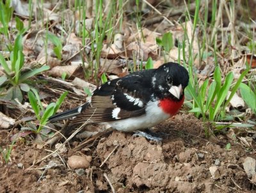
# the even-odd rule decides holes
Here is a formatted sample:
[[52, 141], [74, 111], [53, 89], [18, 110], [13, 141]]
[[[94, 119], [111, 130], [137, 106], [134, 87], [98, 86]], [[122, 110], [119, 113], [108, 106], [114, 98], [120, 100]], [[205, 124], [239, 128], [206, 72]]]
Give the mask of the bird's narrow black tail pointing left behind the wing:
[[62, 113], [58, 113], [56, 115], [52, 115], [48, 119], [48, 121], [53, 123], [53, 122], [57, 122], [59, 120], [76, 117], [77, 115], [79, 115], [81, 113], [81, 111], [86, 109], [89, 105], [90, 105], [90, 103], [84, 103], [81, 106], [78, 106], [77, 108], [73, 108], [72, 110], [68, 110], [68, 111], [64, 111]]

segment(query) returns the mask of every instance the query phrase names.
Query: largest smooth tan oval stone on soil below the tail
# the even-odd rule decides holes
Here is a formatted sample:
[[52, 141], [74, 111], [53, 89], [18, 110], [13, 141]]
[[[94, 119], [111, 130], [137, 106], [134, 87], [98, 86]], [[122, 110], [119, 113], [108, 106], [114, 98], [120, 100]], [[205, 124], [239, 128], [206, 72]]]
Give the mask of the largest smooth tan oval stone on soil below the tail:
[[72, 155], [68, 157], [67, 164], [71, 169], [79, 169], [79, 168], [89, 168], [90, 161], [92, 161], [92, 157], [84, 157], [80, 155]]

